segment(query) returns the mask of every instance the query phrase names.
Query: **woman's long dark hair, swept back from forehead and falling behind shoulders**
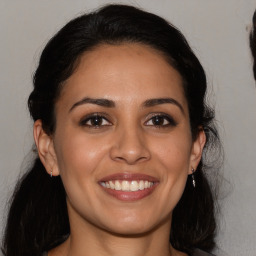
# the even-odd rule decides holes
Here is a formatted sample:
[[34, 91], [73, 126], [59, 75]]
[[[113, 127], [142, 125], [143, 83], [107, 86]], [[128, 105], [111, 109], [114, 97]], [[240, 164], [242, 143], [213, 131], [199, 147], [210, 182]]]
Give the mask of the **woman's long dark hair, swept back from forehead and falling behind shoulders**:
[[[79, 57], [100, 44], [135, 42], [160, 51], [183, 78], [193, 138], [204, 129], [207, 142], [195, 173], [196, 187], [187, 180], [173, 212], [170, 242], [176, 249], [213, 249], [216, 222], [213, 195], [206, 179], [207, 155], [218, 134], [214, 111], [206, 105], [204, 70], [184, 36], [164, 19], [132, 6], [107, 5], [65, 25], [46, 45], [34, 74], [28, 99], [33, 120], [41, 119], [50, 135], [55, 131], [54, 107], [63, 82]], [[69, 235], [66, 195], [60, 177], [50, 178], [39, 158], [18, 182], [12, 197], [3, 241], [6, 256], [35, 256], [63, 242]]]

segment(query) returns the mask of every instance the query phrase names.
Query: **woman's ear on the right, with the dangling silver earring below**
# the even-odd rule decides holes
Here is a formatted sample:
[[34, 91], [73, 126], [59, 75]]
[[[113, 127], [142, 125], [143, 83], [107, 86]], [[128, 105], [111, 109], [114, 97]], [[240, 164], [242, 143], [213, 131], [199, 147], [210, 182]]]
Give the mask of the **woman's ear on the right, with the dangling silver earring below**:
[[197, 169], [197, 166], [202, 157], [205, 142], [206, 142], [205, 132], [203, 129], [200, 129], [197, 138], [192, 144], [189, 174], [192, 174], [192, 169], [194, 170]]

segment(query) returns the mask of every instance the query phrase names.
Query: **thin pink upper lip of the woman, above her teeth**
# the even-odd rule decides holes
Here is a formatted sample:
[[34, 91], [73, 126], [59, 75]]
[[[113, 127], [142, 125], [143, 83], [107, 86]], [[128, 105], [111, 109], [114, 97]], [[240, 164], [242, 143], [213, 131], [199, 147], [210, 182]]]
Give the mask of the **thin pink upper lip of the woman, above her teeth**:
[[106, 182], [106, 181], [110, 181], [110, 180], [128, 180], [128, 181], [132, 181], [132, 180], [147, 180], [150, 182], [158, 182], [158, 179], [147, 175], [147, 174], [142, 174], [142, 173], [114, 173], [108, 176], [103, 177], [102, 179], [100, 179], [100, 182]]

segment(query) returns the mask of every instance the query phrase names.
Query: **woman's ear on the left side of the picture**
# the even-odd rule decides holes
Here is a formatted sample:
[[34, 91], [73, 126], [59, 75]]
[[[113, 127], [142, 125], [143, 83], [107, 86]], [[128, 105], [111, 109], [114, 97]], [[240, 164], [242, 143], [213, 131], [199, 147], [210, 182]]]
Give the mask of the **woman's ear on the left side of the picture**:
[[34, 123], [34, 140], [36, 143], [39, 158], [49, 175], [59, 175], [57, 157], [53, 145], [53, 139], [48, 135], [42, 126], [41, 120]]

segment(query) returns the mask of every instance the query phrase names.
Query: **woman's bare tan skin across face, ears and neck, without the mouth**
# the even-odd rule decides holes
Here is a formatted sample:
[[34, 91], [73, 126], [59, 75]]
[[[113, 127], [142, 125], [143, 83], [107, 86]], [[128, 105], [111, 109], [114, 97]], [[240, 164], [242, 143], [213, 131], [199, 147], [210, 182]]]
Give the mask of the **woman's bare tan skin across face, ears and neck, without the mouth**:
[[[88, 97], [115, 106], [81, 102]], [[145, 106], [159, 98], [175, 103]], [[95, 113], [104, 116], [99, 126], [88, 119]], [[205, 134], [192, 141], [181, 76], [159, 52], [127, 43], [85, 53], [56, 103], [55, 133], [37, 120], [34, 137], [46, 170], [61, 176], [67, 193], [71, 234], [50, 256], [185, 255], [169, 244], [172, 211]], [[98, 183], [115, 173], [147, 174], [158, 184], [143, 199], [118, 200]]]

